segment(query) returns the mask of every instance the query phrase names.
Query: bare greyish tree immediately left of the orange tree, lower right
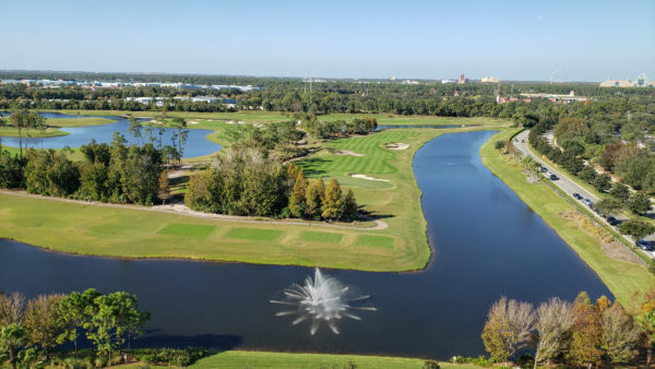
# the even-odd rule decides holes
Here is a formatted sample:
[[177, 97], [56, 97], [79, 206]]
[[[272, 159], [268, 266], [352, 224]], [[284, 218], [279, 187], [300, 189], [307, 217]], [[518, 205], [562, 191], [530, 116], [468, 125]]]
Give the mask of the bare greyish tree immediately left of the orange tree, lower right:
[[561, 353], [564, 336], [575, 322], [573, 305], [559, 297], [553, 297], [539, 305], [536, 314], [535, 329], [538, 334], [535, 368], [544, 361], [550, 361]]

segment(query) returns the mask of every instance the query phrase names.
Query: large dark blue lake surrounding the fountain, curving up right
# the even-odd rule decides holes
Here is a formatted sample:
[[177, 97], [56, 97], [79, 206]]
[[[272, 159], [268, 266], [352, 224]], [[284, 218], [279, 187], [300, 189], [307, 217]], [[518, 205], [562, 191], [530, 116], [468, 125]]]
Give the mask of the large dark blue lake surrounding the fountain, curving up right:
[[270, 299], [313, 271], [307, 267], [68, 255], [0, 240], [0, 289], [37, 294], [128, 290], [152, 313], [139, 346], [389, 354], [448, 359], [484, 353], [480, 333], [500, 296], [572, 300], [611, 294], [598, 276], [480, 162], [493, 132], [439, 136], [421, 147], [414, 171], [422, 191], [426, 270], [368, 273], [326, 270], [372, 296], [378, 311], [324, 326], [275, 317]]

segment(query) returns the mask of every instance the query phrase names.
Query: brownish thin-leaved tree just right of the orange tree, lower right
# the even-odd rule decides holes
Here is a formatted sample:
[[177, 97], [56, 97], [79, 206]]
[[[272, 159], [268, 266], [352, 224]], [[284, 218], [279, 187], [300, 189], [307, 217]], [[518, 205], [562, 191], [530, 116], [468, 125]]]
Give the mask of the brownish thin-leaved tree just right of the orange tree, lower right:
[[639, 335], [632, 317], [618, 302], [600, 317], [600, 346], [614, 364], [634, 359]]

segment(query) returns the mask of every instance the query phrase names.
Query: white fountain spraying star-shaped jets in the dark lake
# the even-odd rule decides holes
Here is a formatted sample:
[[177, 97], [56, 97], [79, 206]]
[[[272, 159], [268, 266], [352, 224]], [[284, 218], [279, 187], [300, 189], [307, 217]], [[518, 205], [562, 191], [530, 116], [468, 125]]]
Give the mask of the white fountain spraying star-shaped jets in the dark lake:
[[337, 279], [323, 275], [317, 267], [313, 279], [307, 276], [305, 285], [294, 283], [282, 291], [283, 299], [273, 299], [271, 302], [291, 307], [276, 313], [277, 317], [297, 316], [291, 322], [296, 325], [310, 320], [309, 332], [317, 333], [321, 322], [338, 334], [336, 321], [342, 318], [361, 320], [353, 313], [354, 310], [377, 310], [370, 306], [370, 296], [359, 295], [353, 288], [345, 286]]

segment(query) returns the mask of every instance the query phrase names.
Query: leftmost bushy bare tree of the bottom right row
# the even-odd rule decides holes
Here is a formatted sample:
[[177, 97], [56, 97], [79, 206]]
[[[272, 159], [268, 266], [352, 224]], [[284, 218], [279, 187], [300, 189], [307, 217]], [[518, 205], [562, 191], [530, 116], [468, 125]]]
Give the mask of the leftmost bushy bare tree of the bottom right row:
[[535, 325], [534, 308], [528, 302], [508, 301], [501, 297], [496, 301], [483, 331], [485, 347], [492, 357], [507, 361], [527, 345]]

